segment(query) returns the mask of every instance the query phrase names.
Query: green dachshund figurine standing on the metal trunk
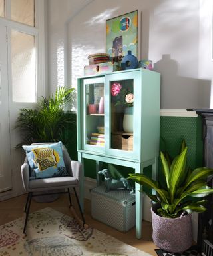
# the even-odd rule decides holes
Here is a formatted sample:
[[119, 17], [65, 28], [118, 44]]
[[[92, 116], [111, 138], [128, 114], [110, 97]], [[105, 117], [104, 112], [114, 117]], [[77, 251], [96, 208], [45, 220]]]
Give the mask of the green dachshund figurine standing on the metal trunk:
[[105, 192], [108, 192], [112, 189], [130, 189], [130, 193], [134, 193], [134, 188], [126, 178], [120, 178], [120, 179], [112, 179], [110, 176], [110, 173], [107, 169], [103, 169], [101, 171], [98, 171], [99, 174], [102, 174], [105, 176]]

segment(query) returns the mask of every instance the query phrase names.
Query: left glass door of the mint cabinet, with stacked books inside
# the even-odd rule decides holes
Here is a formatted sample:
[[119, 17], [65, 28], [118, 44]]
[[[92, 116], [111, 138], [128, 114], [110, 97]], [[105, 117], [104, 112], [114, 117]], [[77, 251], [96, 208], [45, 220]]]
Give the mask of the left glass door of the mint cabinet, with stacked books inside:
[[85, 79], [83, 87], [83, 147], [92, 151], [103, 151], [105, 147], [104, 78]]

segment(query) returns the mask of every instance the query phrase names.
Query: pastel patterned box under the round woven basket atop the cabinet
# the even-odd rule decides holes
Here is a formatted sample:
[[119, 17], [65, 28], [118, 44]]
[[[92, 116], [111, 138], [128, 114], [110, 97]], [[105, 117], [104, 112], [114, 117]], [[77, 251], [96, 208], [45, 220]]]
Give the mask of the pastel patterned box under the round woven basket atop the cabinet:
[[113, 71], [119, 71], [120, 69], [120, 64], [118, 62], [104, 62], [85, 66], [84, 75], [106, 74]]

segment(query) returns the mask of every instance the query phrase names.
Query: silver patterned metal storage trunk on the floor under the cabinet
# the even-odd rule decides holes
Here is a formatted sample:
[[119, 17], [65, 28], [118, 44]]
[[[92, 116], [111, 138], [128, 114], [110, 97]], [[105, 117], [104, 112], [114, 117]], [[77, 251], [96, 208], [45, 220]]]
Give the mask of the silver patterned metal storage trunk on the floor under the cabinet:
[[126, 232], [135, 226], [135, 195], [124, 189], [105, 192], [104, 185], [95, 187], [91, 189], [91, 215]]

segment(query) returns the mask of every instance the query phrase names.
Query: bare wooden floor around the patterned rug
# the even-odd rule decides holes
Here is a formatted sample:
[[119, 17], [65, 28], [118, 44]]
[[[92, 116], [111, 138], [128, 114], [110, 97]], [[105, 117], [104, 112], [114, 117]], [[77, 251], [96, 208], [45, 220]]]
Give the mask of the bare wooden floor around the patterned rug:
[[[0, 202], [0, 225], [3, 225], [9, 221], [13, 221], [14, 219], [17, 219], [19, 217], [23, 217], [23, 209], [26, 198], [27, 195], [21, 195], [13, 199]], [[75, 199], [73, 199], [73, 205], [75, 206]], [[69, 211], [69, 201], [67, 195], [60, 195], [59, 199], [51, 203], [37, 203], [32, 200], [30, 212], [37, 211], [45, 207], [51, 207], [56, 211], [71, 215], [71, 212]], [[75, 209], [77, 210], [76, 206]], [[116, 237], [117, 239], [123, 241], [124, 243], [127, 243], [128, 245], [132, 245], [142, 251], [146, 251], [147, 253], [150, 253], [150, 255], [156, 255], [154, 249], [157, 249], [157, 247], [152, 242], [151, 223], [148, 223], [147, 221], [142, 221], [142, 239], [138, 240], [136, 239], [135, 228], [131, 229], [127, 233], [121, 233], [120, 231], [116, 231], [116, 229], [112, 229], [111, 227], [108, 227], [107, 225], [92, 219], [90, 209], [90, 201], [85, 199], [85, 219], [86, 223], [89, 224], [91, 227], [103, 231], [108, 235], [112, 235], [112, 237]]]

